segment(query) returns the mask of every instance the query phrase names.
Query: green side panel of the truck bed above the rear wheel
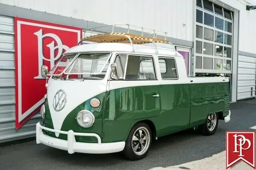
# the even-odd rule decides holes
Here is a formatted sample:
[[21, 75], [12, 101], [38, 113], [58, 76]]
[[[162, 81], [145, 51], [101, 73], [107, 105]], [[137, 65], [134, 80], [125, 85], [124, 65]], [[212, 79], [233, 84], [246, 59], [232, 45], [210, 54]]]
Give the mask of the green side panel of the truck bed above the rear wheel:
[[190, 91], [190, 127], [203, 124], [209, 113], [223, 112], [224, 116], [228, 114], [230, 103], [228, 82], [192, 83]]

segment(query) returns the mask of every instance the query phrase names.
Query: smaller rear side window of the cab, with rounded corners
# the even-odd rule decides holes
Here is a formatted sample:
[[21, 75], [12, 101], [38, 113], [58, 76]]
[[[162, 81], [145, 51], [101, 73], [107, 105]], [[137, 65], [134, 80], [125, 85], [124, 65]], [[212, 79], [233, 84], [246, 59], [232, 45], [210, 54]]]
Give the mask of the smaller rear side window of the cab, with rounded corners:
[[162, 79], [178, 79], [176, 63], [174, 58], [158, 58]]

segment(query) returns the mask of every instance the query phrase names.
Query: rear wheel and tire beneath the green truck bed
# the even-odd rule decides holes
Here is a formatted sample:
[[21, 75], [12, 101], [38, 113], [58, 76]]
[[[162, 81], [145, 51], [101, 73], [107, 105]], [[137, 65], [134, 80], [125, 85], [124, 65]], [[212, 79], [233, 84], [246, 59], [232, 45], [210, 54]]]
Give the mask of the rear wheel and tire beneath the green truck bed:
[[216, 129], [218, 127], [218, 122], [219, 122], [218, 113], [210, 113], [207, 115], [205, 123], [199, 126], [199, 131], [204, 136], [210, 136], [216, 132]]

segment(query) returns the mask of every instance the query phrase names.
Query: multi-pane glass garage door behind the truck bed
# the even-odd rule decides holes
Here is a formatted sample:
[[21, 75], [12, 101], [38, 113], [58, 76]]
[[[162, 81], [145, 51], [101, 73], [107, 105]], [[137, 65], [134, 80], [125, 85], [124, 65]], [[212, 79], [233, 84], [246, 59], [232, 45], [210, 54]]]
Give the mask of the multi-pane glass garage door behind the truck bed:
[[209, 0], [196, 1], [197, 73], [232, 73], [233, 12]]

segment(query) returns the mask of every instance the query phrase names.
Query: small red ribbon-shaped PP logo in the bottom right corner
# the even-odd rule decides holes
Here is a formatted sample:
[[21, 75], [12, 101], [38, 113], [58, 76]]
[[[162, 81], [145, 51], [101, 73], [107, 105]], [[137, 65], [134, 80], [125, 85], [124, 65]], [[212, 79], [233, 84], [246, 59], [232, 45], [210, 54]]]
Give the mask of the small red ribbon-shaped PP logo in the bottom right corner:
[[244, 161], [252, 168], [255, 166], [255, 131], [226, 132], [226, 169]]

